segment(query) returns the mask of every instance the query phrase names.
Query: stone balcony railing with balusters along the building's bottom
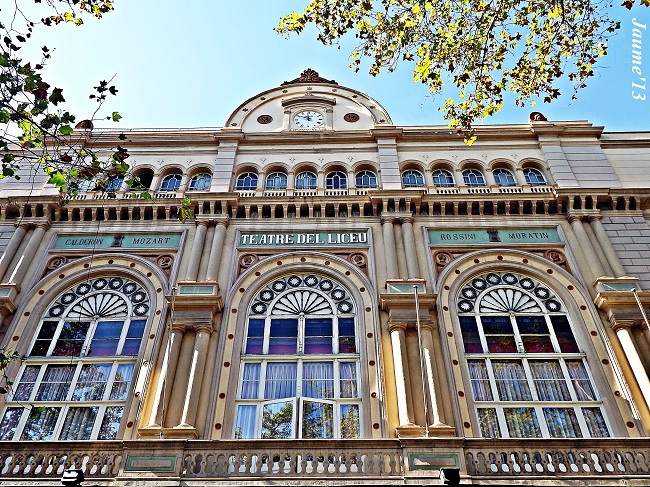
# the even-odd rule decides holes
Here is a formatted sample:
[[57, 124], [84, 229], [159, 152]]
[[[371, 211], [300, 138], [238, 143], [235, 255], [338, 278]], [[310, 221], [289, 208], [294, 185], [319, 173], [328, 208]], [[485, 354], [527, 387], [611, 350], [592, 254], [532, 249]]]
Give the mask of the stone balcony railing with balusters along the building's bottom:
[[[0, 444], [0, 483], [152, 485], [239, 479], [253, 484], [422, 483], [459, 468], [463, 484], [650, 485], [648, 438], [18, 441]], [[159, 485], [159, 484], [156, 484]], [[197, 484], [198, 485], [198, 484]]]

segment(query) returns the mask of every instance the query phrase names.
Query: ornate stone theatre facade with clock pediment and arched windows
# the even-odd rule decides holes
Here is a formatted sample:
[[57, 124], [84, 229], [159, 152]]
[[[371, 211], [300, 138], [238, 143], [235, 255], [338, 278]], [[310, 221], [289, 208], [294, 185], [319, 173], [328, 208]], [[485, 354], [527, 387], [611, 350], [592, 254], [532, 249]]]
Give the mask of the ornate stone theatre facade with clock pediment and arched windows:
[[650, 483], [650, 133], [525, 122], [307, 70], [0, 180], [0, 485]]

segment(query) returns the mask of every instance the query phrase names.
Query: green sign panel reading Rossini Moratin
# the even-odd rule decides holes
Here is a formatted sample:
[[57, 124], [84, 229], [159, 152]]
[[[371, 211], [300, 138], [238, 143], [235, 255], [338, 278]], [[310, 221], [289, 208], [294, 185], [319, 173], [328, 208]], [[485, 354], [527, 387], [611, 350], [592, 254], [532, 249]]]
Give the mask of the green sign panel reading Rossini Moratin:
[[557, 228], [429, 230], [431, 245], [561, 243]]

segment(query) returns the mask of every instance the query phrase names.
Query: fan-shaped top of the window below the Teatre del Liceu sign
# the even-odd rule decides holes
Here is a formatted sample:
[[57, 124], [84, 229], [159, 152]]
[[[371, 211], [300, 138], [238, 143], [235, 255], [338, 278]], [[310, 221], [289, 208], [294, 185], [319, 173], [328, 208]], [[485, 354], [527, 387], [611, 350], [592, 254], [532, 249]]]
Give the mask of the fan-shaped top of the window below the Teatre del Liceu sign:
[[269, 311], [271, 315], [348, 314], [354, 311], [354, 305], [348, 291], [338, 282], [315, 274], [292, 274], [267, 284], [253, 300], [251, 314], [263, 315]]

